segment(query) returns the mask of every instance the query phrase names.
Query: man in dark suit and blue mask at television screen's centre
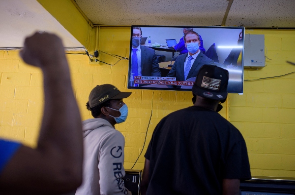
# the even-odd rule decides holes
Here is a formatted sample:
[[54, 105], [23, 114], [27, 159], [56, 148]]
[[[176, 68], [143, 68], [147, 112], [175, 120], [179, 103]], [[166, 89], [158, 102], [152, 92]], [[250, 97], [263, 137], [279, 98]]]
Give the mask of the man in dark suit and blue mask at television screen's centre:
[[214, 61], [200, 52], [200, 38], [195, 31], [188, 31], [184, 36], [188, 54], [182, 54], [176, 58], [167, 77], [176, 77], [176, 81], [186, 81], [196, 77], [199, 69], [204, 64], [214, 64]]

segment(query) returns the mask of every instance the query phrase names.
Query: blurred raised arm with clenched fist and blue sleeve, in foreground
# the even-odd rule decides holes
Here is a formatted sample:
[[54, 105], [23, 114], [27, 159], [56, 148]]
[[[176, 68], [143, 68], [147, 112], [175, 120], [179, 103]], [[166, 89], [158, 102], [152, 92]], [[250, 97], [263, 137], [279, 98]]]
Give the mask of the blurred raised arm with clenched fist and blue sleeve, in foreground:
[[20, 56], [43, 71], [43, 119], [36, 148], [0, 139], [0, 194], [71, 192], [82, 182], [83, 142], [62, 40], [37, 32]]

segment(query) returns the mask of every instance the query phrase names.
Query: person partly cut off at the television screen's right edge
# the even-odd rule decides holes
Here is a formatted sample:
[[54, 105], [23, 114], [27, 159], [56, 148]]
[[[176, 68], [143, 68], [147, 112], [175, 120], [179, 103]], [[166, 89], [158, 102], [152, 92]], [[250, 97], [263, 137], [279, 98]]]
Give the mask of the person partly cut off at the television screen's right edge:
[[240, 32], [238, 47], [233, 48], [224, 60], [224, 65], [242, 66], [243, 33]]

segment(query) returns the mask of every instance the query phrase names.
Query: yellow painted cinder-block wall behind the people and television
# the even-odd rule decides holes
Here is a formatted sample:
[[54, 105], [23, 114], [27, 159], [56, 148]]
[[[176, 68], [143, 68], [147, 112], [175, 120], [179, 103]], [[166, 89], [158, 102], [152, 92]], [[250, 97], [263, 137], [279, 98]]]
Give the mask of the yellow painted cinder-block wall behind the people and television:
[[[245, 70], [245, 80], [276, 76], [295, 71], [285, 60], [295, 61], [295, 31], [246, 30], [265, 34], [267, 66]], [[101, 27], [100, 50], [129, 57], [130, 27]], [[293, 43], [293, 44], [292, 44]], [[116, 125], [125, 136], [125, 168], [130, 169], [144, 142], [134, 169], [142, 169], [144, 153], [157, 123], [168, 113], [192, 105], [191, 92], [128, 90], [128, 60], [114, 66], [89, 63], [87, 56], [67, 55], [75, 96], [82, 119], [92, 118], [85, 107], [88, 94], [100, 84], [113, 84], [132, 95], [125, 99], [128, 119]], [[100, 53], [99, 59], [114, 64], [117, 59]], [[25, 65], [18, 52], [0, 51], [0, 136], [36, 145], [42, 116], [42, 73]], [[244, 83], [244, 95], [230, 94], [221, 115], [245, 137], [252, 175], [295, 177], [295, 75]], [[226, 106], [228, 104], [228, 106]]]

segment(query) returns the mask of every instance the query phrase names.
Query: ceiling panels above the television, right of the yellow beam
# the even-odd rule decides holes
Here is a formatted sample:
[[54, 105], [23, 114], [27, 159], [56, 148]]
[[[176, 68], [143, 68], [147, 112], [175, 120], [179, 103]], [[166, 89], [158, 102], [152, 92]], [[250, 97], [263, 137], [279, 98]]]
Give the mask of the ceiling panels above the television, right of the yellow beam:
[[[94, 24], [221, 25], [227, 0], [75, 0]], [[233, 0], [225, 26], [295, 27], [294, 0]]]

